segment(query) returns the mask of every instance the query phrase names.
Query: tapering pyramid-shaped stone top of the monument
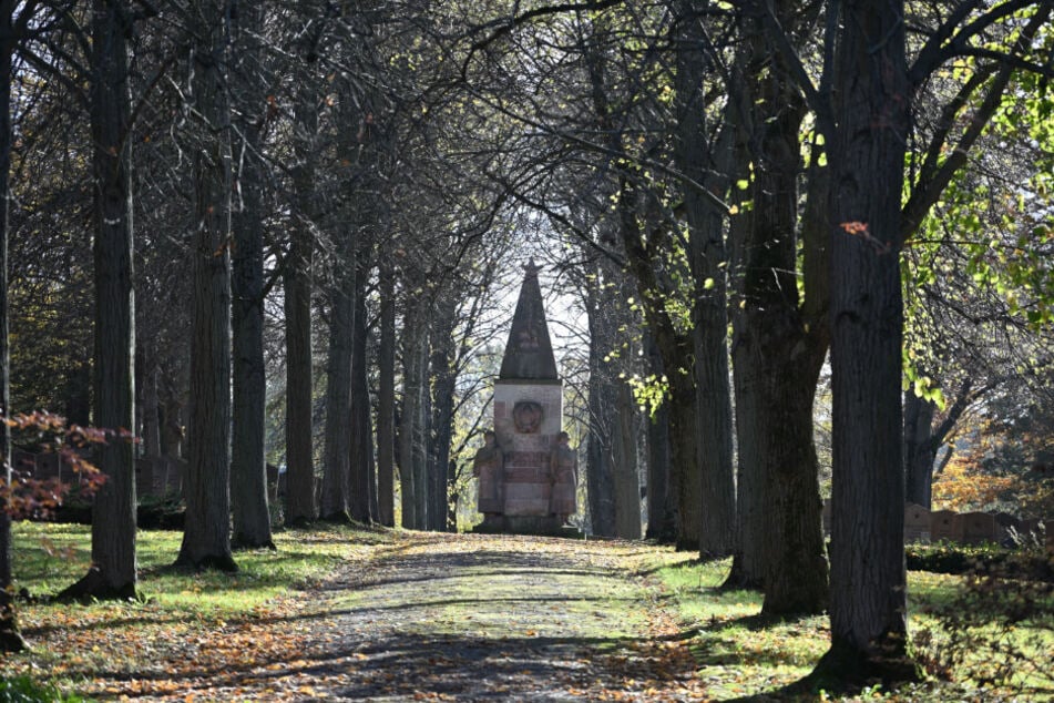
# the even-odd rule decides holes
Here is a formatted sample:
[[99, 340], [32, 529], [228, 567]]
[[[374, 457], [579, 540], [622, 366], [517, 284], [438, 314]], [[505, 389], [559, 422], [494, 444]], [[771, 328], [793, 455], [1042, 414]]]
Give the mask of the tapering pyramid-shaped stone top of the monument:
[[553, 343], [545, 324], [542, 288], [538, 284], [539, 267], [532, 259], [523, 267], [526, 275], [520, 287], [520, 299], [512, 316], [512, 329], [505, 356], [501, 360], [500, 380], [559, 380]]

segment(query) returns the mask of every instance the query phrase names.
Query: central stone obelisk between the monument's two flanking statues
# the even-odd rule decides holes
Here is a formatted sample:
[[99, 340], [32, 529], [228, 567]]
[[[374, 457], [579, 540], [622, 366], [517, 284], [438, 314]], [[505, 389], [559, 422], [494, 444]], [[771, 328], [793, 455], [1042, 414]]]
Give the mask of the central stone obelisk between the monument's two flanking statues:
[[508, 532], [559, 532], [551, 514], [550, 455], [561, 431], [563, 381], [556, 375], [545, 324], [539, 267], [530, 262], [512, 317], [509, 344], [494, 385], [494, 432], [504, 455], [504, 513]]

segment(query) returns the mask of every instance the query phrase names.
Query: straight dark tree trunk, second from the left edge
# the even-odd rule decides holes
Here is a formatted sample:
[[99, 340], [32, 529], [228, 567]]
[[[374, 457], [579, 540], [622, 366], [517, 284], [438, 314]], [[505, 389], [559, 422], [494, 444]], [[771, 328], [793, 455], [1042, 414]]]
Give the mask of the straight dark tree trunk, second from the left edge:
[[[92, 3], [91, 126], [95, 237], [95, 427], [135, 427], [135, 314], [132, 289], [132, 149], [124, 2]], [[111, 437], [96, 451], [106, 481], [92, 509], [92, 566], [61, 598], [135, 595], [135, 456]]]

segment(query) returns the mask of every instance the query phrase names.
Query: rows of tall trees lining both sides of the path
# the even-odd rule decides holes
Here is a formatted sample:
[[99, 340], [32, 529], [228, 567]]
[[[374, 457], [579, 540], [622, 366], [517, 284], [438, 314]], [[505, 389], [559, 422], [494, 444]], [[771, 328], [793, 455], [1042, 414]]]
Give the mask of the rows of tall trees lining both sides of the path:
[[[0, 9], [16, 404], [185, 454], [178, 563], [270, 544], [268, 398], [287, 523], [393, 524], [398, 482], [405, 527], [449, 529], [538, 230], [585, 317], [593, 529], [638, 533], [645, 466], [649, 537], [829, 610], [837, 668], [905, 661], [890, 508], [929, 501], [965, 409], [1048, 374], [1051, 2]], [[127, 595], [133, 448], [99, 461], [70, 594]]]

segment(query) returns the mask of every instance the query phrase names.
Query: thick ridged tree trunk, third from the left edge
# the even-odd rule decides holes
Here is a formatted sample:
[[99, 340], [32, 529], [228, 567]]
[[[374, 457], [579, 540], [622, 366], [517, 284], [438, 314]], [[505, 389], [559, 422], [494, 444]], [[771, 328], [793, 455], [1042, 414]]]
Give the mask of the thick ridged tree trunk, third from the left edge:
[[184, 483], [186, 517], [177, 566], [234, 571], [231, 554], [231, 141], [224, 75], [225, 4], [191, 8], [191, 108], [199, 133], [194, 153], [194, 296], [191, 421]]

